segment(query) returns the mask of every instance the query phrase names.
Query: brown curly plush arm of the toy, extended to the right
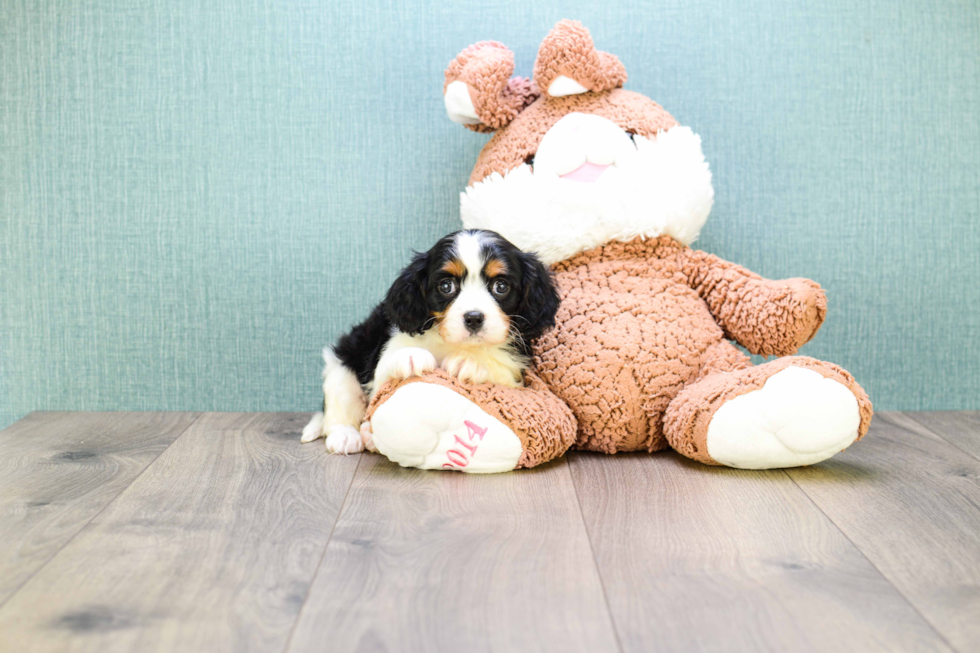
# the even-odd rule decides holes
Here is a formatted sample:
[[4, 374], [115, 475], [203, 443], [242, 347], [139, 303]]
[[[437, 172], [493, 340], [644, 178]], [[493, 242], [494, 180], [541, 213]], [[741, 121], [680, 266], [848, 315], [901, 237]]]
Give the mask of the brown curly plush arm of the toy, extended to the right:
[[827, 315], [827, 298], [815, 281], [763, 279], [697, 250], [686, 250], [681, 265], [726, 337], [753, 354], [795, 354]]

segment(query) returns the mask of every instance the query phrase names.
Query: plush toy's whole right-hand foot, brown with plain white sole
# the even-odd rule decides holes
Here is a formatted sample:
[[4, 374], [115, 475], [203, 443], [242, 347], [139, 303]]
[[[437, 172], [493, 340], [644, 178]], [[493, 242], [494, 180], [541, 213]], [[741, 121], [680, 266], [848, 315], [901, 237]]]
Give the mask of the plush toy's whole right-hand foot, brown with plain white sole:
[[665, 434], [696, 460], [742, 469], [812, 465], [867, 431], [871, 403], [836, 365], [780, 359], [712, 375], [671, 402]]

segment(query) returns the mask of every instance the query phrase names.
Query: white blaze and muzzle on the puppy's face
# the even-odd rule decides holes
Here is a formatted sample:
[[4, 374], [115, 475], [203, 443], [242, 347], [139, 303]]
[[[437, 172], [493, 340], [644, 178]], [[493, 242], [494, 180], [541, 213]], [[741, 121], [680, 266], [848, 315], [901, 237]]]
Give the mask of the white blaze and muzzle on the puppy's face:
[[459, 294], [450, 304], [444, 318], [448, 339], [462, 342], [472, 336], [463, 323], [463, 316], [471, 311], [483, 313], [483, 328], [478, 332], [483, 341], [498, 344], [507, 339], [509, 325], [497, 301], [487, 289], [483, 278], [486, 260], [483, 256], [483, 239], [479, 234], [461, 232], [453, 243], [456, 257], [466, 268], [460, 280]]

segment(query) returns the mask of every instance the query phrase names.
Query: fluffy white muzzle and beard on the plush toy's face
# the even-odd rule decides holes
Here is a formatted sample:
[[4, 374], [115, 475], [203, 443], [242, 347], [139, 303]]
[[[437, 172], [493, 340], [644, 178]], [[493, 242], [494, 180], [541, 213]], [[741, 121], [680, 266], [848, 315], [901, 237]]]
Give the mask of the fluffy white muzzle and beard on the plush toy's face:
[[[590, 179], [576, 174], [583, 167]], [[473, 184], [460, 208], [465, 227], [497, 231], [553, 264], [637, 236], [690, 244], [713, 201], [701, 139], [689, 128], [631, 139], [610, 120], [571, 113], [544, 135], [533, 165]]]

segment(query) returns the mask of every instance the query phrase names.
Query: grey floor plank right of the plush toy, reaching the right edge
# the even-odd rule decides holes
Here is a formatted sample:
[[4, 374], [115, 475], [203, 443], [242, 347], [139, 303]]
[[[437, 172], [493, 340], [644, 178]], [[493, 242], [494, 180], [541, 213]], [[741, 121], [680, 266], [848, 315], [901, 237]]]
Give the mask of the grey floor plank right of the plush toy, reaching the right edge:
[[901, 413], [790, 476], [954, 647], [980, 650], [980, 461]]

